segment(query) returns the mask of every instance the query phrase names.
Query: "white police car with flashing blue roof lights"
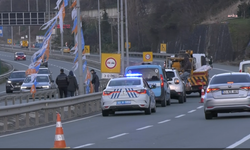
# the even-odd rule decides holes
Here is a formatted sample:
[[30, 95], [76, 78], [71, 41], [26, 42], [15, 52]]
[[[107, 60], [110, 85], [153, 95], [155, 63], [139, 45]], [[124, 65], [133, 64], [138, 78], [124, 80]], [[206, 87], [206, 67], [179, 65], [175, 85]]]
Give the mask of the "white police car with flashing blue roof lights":
[[125, 77], [111, 79], [102, 94], [102, 115], [129, 110], [142, 110], [147, 115], [156, 112], [153, 88], [155, 85], [149, 87], [141, 74], [126, 74]]

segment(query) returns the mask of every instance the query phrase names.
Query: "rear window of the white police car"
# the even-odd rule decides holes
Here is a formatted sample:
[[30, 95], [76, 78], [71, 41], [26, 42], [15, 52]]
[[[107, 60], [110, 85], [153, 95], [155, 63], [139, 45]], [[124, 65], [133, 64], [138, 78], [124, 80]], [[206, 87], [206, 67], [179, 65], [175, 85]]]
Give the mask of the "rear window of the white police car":
[[140, 79], [125, 79], [125, 80], [113, 80], [109, 82], [108, 86], [130, 86], [141, 85]]

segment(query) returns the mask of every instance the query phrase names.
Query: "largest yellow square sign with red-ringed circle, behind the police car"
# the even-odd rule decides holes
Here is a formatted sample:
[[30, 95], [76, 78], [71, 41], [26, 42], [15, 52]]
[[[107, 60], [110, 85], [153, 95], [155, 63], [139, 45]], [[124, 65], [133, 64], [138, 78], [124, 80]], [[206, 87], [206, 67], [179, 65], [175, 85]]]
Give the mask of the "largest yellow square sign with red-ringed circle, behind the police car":
[[121, 54], [102, 53], [101, 72], [120, 73]]

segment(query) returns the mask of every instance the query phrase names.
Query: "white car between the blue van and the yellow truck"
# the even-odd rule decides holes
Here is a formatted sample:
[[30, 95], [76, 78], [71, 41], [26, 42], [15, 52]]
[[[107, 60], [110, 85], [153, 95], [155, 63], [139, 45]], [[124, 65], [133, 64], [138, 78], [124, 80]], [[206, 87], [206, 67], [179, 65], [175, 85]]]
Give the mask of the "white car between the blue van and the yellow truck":
[[176, 69], [165, 69], [172, 99], [179, 103], [186, 102], [185, 84]]

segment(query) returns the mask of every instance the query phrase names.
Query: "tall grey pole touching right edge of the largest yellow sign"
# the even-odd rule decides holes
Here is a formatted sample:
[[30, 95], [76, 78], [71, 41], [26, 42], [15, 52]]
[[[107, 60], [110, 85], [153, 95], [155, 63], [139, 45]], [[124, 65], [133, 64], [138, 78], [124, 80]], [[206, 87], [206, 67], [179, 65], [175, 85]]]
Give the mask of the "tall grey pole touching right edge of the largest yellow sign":
[[121, 74], [124, 75], [124, 29], [123, 29], [123, 0], [121, 0]]

